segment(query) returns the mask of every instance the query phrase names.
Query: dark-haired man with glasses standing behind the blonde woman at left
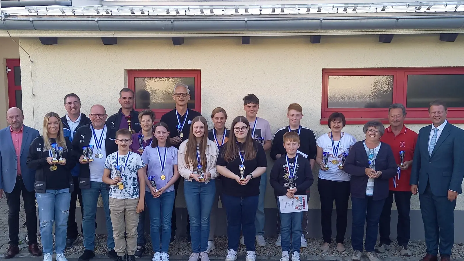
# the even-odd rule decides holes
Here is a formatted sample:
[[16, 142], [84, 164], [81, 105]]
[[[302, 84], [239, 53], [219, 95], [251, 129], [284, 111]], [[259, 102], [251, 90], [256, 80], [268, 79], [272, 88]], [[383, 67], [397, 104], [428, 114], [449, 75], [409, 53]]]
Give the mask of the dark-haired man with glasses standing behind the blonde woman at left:
[[[90, 119], [81, 113], [81, 99], [77, 94], [70, 93], [64, 96], [64, 109], [66, 109], [66, 115], [61, 117], [63, 122], [63, 134], [64, 137], [68, 137], [72, 142], [74, 134], [80, 126], [90, 124]], [[76, 201], [79, 199], [81, 206], [81, 214], [84, 216], [84, 208], [82, 208], [82, 195], [79, 189], [79, 164], [71, 170], [72, 178], [74, 180], [74, 191], [71, 193], [71, 203], [69, 206], [69, 218], [68, 218], [68, 230], [66, 233], [66, 248], [72, 248], [72, 245], [77, 241], [77, 223], [76, 223]], [[97, 226], [97, 223], [95, 224]], [[82, 232], [82, 226], [81, 226]]]

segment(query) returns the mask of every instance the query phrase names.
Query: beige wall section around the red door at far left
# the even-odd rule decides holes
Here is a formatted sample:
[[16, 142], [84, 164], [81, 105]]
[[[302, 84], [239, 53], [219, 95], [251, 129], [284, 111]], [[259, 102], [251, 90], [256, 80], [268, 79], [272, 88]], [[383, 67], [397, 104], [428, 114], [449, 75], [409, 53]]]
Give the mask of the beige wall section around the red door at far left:
[[[18, 38], [13, 38], [18, 42]], [[8, 84], [6, 81], [6, 59], [19, 59], [19, 47], [9, 37], [0, 37], [0, 129], [8, 126], [6, 110], [8, 110]]]

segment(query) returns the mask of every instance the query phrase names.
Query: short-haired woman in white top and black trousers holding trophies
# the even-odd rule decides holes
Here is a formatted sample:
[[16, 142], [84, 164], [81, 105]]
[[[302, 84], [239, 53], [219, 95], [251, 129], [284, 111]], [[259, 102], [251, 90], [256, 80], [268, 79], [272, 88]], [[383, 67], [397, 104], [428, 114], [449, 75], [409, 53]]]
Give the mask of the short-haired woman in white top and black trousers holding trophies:
[[350, 195], [350, 175], [343, 171], [342, 163], [356, 139], [342, 132], [345, 116], [334, 112], [329, 117], [330, 132], [323, 134], [316, 141], [316, 163], [319, 164], [317, 189], [321, 197], [321, 225], [324, 243], [323, 251], [328, 251], [332, 241], [332, 208], [335, 200], [337, 211], [337, 251], [345, 251], [343, 241], [348, 222], [348, 199]]

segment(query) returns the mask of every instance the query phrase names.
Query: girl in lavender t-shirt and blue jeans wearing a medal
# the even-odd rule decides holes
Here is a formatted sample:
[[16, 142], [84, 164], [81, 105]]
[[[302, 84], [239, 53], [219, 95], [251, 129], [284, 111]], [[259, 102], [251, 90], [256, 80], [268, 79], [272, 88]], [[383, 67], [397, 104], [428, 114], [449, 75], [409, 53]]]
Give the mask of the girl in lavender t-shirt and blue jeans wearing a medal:
[[180, 175], [177, 149], [169, 142], [169, 128], [164, 122], [155, 125], [155, 138], [151, 146], [143, 150], [142, 160], [147, 164], [145, 191], [151, 194], [145, 196], [145, 203], [150, 215], [150, 237], [155, 252], [152, 261], [169, 261], [174, 182]]

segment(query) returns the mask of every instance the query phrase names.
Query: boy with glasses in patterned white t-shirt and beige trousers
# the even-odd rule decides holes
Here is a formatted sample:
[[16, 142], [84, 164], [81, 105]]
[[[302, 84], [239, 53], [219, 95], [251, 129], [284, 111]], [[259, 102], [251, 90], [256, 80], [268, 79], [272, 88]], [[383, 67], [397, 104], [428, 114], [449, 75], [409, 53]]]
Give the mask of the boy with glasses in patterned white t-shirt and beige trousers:
[[[129, 130], [116, 131], [116, 144], [118, 151], [106, 158], [102, 181], [110, 185], [110, 216], [117, 261], [135, 261], [137, 225], [145, 201], [146, 168], [140, 155], [129, 151], [132, 144]], [[128, 256], [123, 258], [126, 253]]]

